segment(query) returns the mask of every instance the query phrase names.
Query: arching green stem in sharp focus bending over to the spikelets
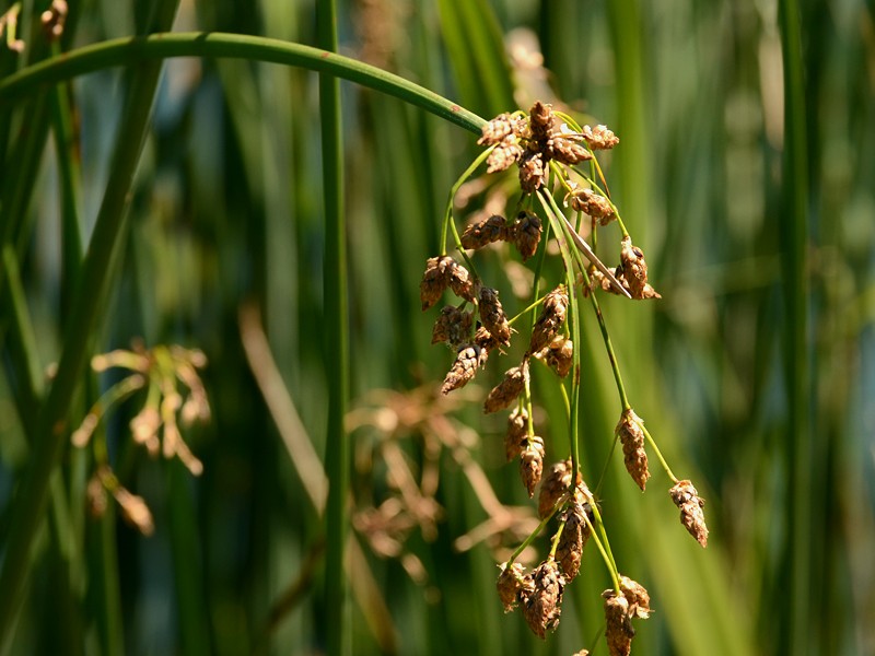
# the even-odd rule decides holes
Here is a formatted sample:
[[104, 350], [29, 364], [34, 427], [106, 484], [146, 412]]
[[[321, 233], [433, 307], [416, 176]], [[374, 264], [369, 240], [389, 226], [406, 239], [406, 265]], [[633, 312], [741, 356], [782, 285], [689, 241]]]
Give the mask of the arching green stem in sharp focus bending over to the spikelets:
[[328, 50], [279, 39], [219, 32], [175, 32], [102, 42], [65, 52], [0, 80], [0, 108], [77, 75], [168, 57], [252, 59], [327, 73], [395, 96], [479, 134], [486, 120], [404, 78]]

